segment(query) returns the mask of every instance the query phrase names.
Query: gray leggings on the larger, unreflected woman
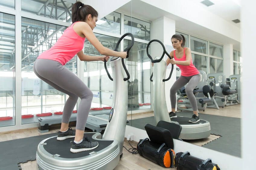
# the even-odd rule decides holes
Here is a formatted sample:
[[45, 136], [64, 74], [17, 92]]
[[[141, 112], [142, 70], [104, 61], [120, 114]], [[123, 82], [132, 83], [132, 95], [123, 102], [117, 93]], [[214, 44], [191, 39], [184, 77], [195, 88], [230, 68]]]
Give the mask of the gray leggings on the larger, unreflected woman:
[[78, 97], [81, 98], [77, 110], [76, 129], [85, 130], [85, 123], [91, 108], [93, 94], [91, 90], [74, 73], [55, 60], [37, 59], [34, 73], [53, 88], [69, 95], [64, 105], [62, 122], [69, 123], [70, 116]]

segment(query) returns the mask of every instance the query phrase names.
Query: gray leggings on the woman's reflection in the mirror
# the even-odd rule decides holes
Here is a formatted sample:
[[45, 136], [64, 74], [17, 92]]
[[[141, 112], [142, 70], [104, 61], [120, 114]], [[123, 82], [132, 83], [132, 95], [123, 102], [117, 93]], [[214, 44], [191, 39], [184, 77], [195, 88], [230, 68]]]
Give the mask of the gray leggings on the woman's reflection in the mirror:
[[177, 91], [187, 84], [185, 89], [187, 97], [190, 101], [193, 111], [197, 111], [197, 100], [195, 95], [193, 94], [193, 90], [199, 82], [200, 82], [200, 74], [196, 74], [194, 76], [188, 76], [188, 77], [180, 76], [176, 80], [176, 82], [174, 82], [170, 90], [171, 108], [175, 108], [176, 106]]

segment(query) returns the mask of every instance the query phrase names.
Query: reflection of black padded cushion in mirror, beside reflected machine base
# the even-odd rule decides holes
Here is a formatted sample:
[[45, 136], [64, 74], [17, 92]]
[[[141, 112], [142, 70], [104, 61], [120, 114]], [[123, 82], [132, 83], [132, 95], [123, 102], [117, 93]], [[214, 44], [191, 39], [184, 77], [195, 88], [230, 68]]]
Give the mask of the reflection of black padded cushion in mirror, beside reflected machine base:
[[182, 126], [175, 124], [175, 123], [171, 123], [171, 122], [166, 122], [166, 121], [159, 121], [156, 125], [157, 127], [160, 128], [165, 128], [167, 130], [169, 130], [171, 132], [171, 136], [174, 139], [179, 139], [180, 134], [181, 134], [181, 129]]

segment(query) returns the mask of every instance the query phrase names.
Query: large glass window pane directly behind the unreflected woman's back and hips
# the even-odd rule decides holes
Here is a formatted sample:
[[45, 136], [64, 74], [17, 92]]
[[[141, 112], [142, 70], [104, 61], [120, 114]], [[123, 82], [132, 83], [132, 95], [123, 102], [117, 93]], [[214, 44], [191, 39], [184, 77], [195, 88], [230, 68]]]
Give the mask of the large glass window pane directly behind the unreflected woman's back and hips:
[[[38, 122], [35, 114], [63, 110], [68, 96], [39, 79], [34, 74], [33, 64], [43, 51], [56, 43], [65, 29], [65, 26], [21, 18], [21, 115], [34, 115], [33, 118], [22, 119], [22, 124]], [[77, 74], [76, 58], [65, 65], [74, 74]]]

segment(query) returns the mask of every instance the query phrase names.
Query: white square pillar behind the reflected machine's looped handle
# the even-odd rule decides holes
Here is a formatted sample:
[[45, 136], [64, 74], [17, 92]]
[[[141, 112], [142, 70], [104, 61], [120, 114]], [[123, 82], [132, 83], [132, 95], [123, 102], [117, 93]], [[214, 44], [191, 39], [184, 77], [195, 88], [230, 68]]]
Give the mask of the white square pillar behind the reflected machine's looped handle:
[[[171, 36], [175, 34], [175, 20], [172, 20], [168, 17], [160, 17], [152, 22], [152, 39], [160, 40], [165, 46], [171, 46]], [[155, 42], [157, 43], [157, 42]], [[162, 47], [161, 45], [151, 45], [152, 47], [152, 57], [161, 57], [162, 56]], [[166, 48], [166, 51], [170, 53], [170, 49]], [[164, 60], [167, 59], [165, 55]], [[171, 65], [166, 69], [166, 78], [170, 75]], [[173, 83], [176, 81], [176, 66], [174, 65], [173, 73], [171, 79], [165, 82], [165, 99], [167, 104], [168, 112], [171, 111], [171, 101], [170, 101], [170, 88]]]

